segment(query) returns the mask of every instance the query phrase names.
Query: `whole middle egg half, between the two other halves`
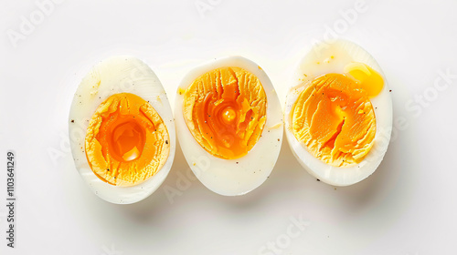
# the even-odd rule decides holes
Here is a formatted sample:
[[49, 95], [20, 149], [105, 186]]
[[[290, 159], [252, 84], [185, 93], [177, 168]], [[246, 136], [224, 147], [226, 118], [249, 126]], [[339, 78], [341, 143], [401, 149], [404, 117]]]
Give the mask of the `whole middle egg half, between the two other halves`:
[[183, 78], [175, 124], [197, 179], [225, 196], [259, 187], [282, 145], [281, 105], [270, 78], [241, 56], [198, 66]]

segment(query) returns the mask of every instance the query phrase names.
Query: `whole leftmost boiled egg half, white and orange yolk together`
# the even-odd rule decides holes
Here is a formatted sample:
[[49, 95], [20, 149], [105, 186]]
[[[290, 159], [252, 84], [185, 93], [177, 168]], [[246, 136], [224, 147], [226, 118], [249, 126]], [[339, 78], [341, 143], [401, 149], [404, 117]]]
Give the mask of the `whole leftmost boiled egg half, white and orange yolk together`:
[[69, 111], [69, 136], [80, 176], [112, 203], [148, 197], [175, 158], [175, 123], [164, 87], [132, 56], [103, 60], [82, 79]]

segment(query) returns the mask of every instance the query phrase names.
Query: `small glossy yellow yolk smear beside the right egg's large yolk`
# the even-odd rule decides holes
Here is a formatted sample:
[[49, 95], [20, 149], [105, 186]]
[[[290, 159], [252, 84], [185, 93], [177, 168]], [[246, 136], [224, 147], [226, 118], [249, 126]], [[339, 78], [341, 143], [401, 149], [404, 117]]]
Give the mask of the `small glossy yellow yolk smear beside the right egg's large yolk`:
[[359, 87], [367, 91], [368, 97], [376, 97], [384, 87], [382, 76], [363, 63], [351, 63], [345, 66], [345, 73], [356, 78]]

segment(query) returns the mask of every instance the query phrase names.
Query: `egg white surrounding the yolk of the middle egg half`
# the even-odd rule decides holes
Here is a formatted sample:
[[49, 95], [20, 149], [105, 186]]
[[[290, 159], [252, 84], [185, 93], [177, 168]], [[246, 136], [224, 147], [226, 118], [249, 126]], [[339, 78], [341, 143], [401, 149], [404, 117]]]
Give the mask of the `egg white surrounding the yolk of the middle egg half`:
[[279, 98], [267, 74], [254, 62], [242, 56], [220, 58], [191, 70], [179, 90], [186, 90], [198, 76], [224, 66], [241, 67], [260, 79], [267, 95], [267, 121], [261, 137], [242, 158], [217, 158], [202, 148], [192, 136], [183, 117], [184, 93], [175, 99], [175, 124], [179, 144], [190, 168], [206, 187], [220, 195], [237, 196], [260, 186], [271, 174], [282, 145], [282, 110]]

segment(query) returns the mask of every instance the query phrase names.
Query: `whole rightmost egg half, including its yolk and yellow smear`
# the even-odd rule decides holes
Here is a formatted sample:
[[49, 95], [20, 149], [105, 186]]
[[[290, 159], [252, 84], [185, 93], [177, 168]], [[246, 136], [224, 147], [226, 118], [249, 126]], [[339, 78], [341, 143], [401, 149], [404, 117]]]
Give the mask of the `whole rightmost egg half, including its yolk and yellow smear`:
[[335, 186], [371, 175], [388, 148], [392, 100], [380, 66], [345, 40], [303, 57], [284, 109], [286, 137], [303, 168]]

